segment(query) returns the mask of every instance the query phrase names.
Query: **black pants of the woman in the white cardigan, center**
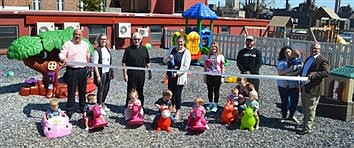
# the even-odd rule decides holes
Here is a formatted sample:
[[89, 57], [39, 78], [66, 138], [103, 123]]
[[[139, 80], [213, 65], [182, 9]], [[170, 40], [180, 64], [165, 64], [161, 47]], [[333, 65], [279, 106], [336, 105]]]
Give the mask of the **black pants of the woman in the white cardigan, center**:
[[172, 91], [172, 105], [176, 107], [176, 109], [181, 108], [182, 104], [182, 90], [184, 85], [177, 85], [178, 77], [168, 78], [168, 89]]

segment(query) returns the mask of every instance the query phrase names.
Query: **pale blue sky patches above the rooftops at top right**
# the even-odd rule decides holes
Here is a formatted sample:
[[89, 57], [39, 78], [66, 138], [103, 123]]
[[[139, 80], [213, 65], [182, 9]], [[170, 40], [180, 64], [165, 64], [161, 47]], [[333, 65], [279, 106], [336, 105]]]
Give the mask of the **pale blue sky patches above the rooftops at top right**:
[[[240, 0], [240, 2], [244, 2], [245, 0]], [[260, 0], [261, 1], [261, 0]], [[306, 0], [289, 0], [289, 3], [291, 5], [291, 8], [299, 6], [300, 3], [305, 2]], [[321, 7], [321, 6], [326, 6], [330, 7], [334, 10], [334, 5], [335, 5], [335, 0], [315, 0], [316, 1], [316, 6]], [[223, 6], [225, 5], [225, 0], [209, 0], [209, 4], [218, 4], [220, 2], [220, 5]], [[272, 6], [272, 8], [285, 8], [285, 0], [267, 0], [267, 2]], [[354, 7], [354, 0], [341, 0], [341, 6], [347, 6], [351, 5], [351, 7]]]

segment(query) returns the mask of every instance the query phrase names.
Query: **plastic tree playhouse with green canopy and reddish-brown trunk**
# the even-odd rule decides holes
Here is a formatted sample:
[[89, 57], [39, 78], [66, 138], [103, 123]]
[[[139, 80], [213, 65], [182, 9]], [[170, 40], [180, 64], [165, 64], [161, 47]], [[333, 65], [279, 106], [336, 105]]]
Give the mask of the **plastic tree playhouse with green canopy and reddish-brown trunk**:
[[[22, 36], [13, 41], [7, 52], [8, 59], [23, 60], [24, 64], [43, 75], [42, 80], [25, 81], [26, 86], [20, 89], [20, 95], [42, 95], [46, 98], [66, 98], [67, 84], [59, 83], [59, 71], [64, 65], [58, 57], [62, 45], [69, 41], [74, 29], [47, 31], [37, 36]], [[90, 42], [82, 38], [94, 49]], [[87, 80], [86, 93], [96, 89], [93, 81]]]

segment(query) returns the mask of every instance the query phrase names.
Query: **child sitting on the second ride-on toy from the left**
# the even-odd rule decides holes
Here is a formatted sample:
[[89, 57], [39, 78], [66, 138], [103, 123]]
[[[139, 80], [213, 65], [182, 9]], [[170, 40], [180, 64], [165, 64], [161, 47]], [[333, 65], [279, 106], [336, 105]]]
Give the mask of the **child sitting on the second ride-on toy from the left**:
[[[85, 130], [89, 130], [89, 120], [93, 119], [93, 107], [98, 106], [97, 98], [95, 94], [88, 94], [87, 95], [87, 103], [84, 107], [83, 118], [85, 123]], [[103, 118], [102, 115], [99, 118]]]

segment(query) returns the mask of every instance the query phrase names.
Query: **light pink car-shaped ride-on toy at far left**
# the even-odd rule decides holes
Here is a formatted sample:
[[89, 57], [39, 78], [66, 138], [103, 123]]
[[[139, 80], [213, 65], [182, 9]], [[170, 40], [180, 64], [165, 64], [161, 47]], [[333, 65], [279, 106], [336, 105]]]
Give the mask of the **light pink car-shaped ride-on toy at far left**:
[[47, 119], [46, 113], [42, 119], [42, 128], [45, 137], [57, 138], [70, 135], [72, 125], [69, 123], [69, 117], [65, 113], [49, 119]]

